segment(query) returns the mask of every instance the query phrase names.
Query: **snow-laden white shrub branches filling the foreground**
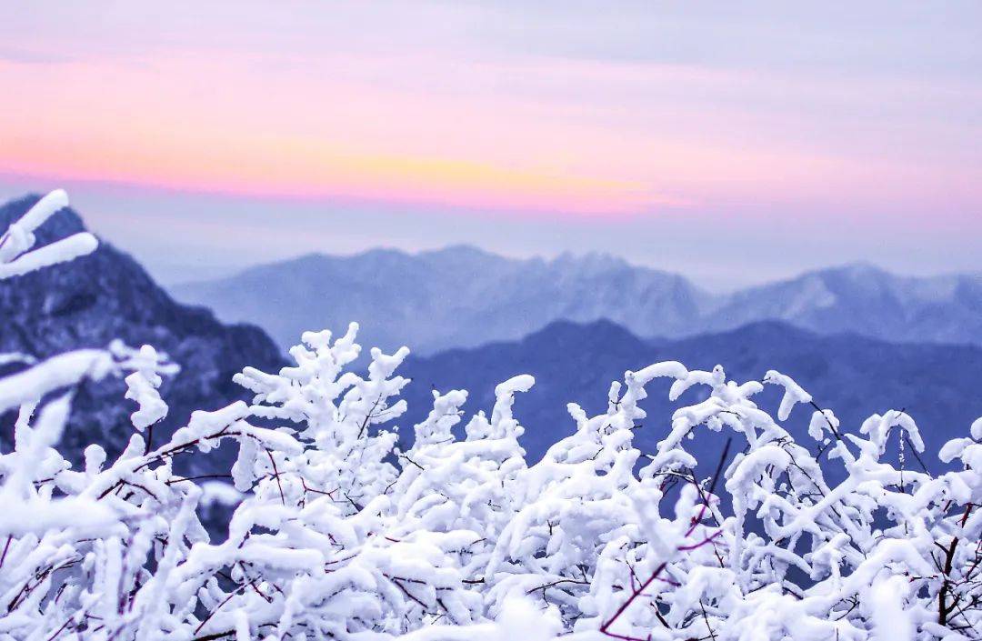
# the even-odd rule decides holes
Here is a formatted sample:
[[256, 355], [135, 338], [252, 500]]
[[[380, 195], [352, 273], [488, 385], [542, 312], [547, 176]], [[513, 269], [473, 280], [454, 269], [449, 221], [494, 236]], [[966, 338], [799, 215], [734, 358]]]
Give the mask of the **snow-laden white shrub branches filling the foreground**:
[[[7, 274], [55, 259], [22, 262], [40, 218], [4, 237], [17, 249], [0, 263], [22, 263]], [[923, 450], [903, 412], [851, 430], [779, 372], [737, 384], [665, 362], [627, 372], [599, 415], [571, 404], [569, 435], [529, 464], [513, 404], [531, 377], [466, 422], [465, 392], [434, 393], [407, 447], [408, 350], [373, 349], [360, 375], [355, 335], [304, 334], [296, 366], [236, 377], [251, 403], [194, 412], [152, 448], [143, 432], [175, 371], [151, 347], [0, 379], [0, 411], [20, 411], [0, 454], [0, 639], [982, 637], [982, 419], [940, 453], [961, 469], [932, 476], [884, 458], [890, 439]], [[102, 376], [125, 377], [134, 433], [116, 460], [93, 446], [75, 470], [56, 449], [71, 390]], [[656, 378], [673, 401], [709, 394], [647, 418], [664, 439], [640, 452]], [[764, 385], [784, 389], [777, 418], [752, 401]], [[808, 444], [782, 427], [799, 403], [815, 410]], [[706, 429], [736, 455], [699, 478], [685, 444]], [[174, 472], [226, 440], [235, 489]], [[240, 497], [210, 540], [200, 515]]]

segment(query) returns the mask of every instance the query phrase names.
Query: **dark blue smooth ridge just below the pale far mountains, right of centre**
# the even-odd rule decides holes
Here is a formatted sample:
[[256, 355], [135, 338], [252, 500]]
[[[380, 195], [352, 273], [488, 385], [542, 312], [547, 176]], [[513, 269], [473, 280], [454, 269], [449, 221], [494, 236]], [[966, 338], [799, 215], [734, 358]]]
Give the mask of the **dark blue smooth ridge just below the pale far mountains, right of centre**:
[[[515, 410], [527, 428], [522, 445], [537, 457], [573, 430], [567, 402], [578, 402], [591, 415], [601, 412], [611, 381], [623, 380], [627, 369], [660, 360], [680, 360], [690, 369], [720, 363], [740, 381], [761, 380], [767, 370], [777, 369], [791, 375], [821, 406], [835, 410], [851, 429], [874, 412], [905, 408], [920, 426], [929, 452], [967, 434], [971, 421], [982, 416], [982, 347], [893, 345], [855, 335], [820, 336], [779, 322], [648, 342], [608, 321], [562, 321], [518, 342], [410, 357], [403, 372], [413, 379], [406, 392], [410, 413], [403, 424], [425, 416], [430, 389], [466, 389], [469, 410], [490, 410], [495, 385], [529, 373], [536, 385], [519, 395]], [[636, 436], [643, 451], [652, 451], [665, 437], [673, 410], [681, 406], [667, 401], [670, 383], [653, 382], [642, 403], [649, 411]], [[699, 394], [704, 392], [690, 391], [681, 401], [689, 404]], [[776, 411], [780, 391], [767, 386], [756, 399]], [[795, 436], [805, 442], [811, 442], [806, 434], [810, 415], [808, 408], [798, 407], [790, 421]], [[698, 445], [706, 460], [717, 460], [714, 453], [722, 444], [716, 435], [703, 430]], [[937, 460], [928, 462], [938, 465]]]

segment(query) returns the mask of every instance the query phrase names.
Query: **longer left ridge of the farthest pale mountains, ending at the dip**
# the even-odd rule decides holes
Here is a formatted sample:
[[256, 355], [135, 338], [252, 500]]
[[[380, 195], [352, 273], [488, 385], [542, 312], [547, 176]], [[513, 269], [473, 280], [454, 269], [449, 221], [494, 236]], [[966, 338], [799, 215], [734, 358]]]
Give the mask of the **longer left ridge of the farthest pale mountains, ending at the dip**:
[[676, 334], [710, 300], [680, 276], [609, 256], [514, 260], [469, 246], [309, 254], [173, 291], [260, 325], [284, 348], [302, 331], [357, 320], [365, 344], [418, 352], [517, 340], [559, 318]]

